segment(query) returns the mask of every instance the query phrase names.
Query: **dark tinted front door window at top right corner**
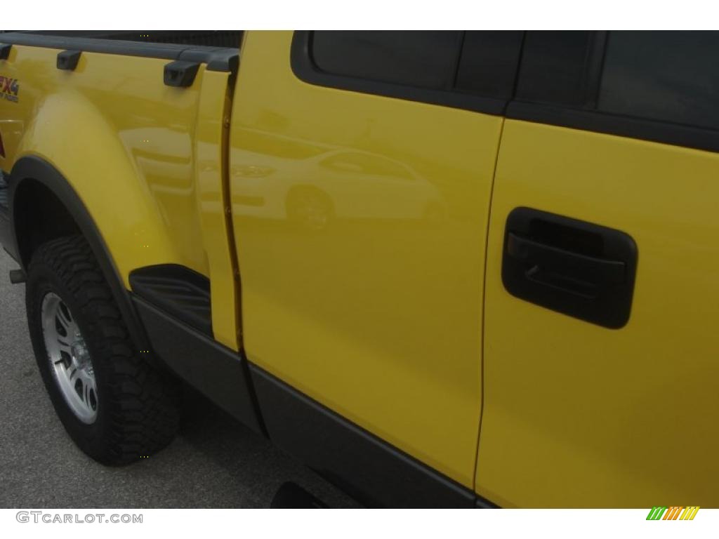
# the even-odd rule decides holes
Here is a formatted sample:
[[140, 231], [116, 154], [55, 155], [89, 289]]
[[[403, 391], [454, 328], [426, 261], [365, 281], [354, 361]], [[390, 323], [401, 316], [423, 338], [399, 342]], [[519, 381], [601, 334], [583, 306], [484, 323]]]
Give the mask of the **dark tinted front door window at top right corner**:
[[610, 32], [598, 108], [719, 128], [719, 32]]

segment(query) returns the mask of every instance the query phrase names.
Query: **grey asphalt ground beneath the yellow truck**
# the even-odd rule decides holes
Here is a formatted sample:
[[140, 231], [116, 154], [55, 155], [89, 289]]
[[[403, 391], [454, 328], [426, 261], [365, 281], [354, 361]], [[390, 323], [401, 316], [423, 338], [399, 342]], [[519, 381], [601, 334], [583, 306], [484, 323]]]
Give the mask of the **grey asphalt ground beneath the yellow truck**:
[[173, 443], [122, 467], [96, 463], [75, 447], [55, 416], [32, 353], [24, 285], [0, 249], [0, 507], [269, 507], [292, 481], [330, 507], [352, 499], [310, 469], [187, 391]]

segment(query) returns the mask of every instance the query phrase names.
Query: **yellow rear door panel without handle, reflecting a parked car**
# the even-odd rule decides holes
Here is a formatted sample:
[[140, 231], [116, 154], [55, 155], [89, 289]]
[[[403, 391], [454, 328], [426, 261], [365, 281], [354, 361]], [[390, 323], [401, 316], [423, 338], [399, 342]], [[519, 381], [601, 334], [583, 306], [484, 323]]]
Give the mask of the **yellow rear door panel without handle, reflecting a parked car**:
[[247, 356], [471, 488], [502, 119], [312, 86], [291, 40], [246, 37], [234, 98]]

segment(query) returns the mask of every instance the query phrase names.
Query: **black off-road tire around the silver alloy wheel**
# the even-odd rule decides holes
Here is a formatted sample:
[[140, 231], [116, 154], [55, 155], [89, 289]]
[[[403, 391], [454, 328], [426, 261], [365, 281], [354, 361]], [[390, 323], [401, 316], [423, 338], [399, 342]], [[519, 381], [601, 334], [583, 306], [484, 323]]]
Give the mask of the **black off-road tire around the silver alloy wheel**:
[[[58, 388], [42, 331], [42, 300], [60, 296], [85, 339], [97, 387], [97, 414], [83, 423]], [[109, 285], [82, 236], [38, 247], [27, 270], [27, 321], [37, 366], [70, 438], [107, 465], [128, 464], [172, 441], [178, 429], [178, 382], [137, 350]]]

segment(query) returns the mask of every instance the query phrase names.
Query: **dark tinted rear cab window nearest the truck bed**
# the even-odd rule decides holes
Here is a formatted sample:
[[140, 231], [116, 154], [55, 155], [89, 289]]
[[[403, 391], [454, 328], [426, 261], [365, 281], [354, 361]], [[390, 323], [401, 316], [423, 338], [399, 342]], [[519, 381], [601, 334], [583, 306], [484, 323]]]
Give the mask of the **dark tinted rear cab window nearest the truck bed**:
[[317, 68], [417, 88], [454, 83], [462, 32], [314, 32]]

